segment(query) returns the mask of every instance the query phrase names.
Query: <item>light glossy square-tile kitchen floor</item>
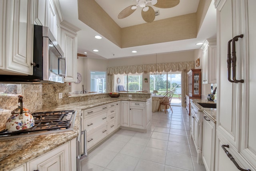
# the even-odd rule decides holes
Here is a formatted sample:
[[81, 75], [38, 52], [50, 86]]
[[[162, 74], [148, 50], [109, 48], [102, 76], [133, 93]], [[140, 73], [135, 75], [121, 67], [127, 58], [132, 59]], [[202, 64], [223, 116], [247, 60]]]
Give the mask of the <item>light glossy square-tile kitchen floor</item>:
[[83, 171], [205, 171], [196, 163], [190, 116], [172, 106], [152, 113], [147, 133], [120, 129], [82, 161]]

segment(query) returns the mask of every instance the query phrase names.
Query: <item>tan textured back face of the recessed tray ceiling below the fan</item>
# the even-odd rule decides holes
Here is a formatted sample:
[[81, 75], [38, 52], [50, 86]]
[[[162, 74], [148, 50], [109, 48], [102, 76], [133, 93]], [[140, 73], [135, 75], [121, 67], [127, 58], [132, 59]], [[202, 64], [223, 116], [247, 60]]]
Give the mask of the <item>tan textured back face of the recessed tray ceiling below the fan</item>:
[[196, 38], [196, 13], [122, 28], [122, 48]]

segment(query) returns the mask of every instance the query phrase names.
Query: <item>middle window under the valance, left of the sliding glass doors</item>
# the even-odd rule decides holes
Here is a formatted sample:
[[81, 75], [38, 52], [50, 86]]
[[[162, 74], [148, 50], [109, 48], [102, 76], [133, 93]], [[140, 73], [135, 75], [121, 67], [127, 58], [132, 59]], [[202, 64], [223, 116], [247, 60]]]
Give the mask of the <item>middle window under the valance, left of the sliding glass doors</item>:
[[142, 91], [142, 74], [124, 75], [124, 86], [127, 91]]

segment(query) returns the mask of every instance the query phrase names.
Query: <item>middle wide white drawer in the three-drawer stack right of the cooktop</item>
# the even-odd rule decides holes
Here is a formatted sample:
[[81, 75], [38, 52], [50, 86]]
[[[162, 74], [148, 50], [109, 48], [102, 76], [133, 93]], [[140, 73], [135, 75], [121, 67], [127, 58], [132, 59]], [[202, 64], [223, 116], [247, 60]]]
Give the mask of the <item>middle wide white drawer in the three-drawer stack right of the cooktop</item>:
[[106, 122], [107, 122], [107, 111], [92, 117], [85, 118], [84, 129], [86, 129], [86, 131], [88, 132]]

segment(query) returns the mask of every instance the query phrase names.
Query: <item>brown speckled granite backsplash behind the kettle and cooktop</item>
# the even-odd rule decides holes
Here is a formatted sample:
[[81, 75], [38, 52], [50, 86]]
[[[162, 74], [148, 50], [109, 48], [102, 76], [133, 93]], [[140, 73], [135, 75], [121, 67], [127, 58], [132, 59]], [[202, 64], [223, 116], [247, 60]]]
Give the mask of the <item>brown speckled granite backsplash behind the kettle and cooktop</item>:
[[[18, 107], [18, 95], [23, 96], [24, 107], [33, 113], [47, 106], [67, 104], [68, 83], [64, 84], [20, 84], [21, 93], [16, 96], [0, 95], [0, 128], [2, 128], [13, 109]], [[62, 99], [59, 99], [59, 93]]]

